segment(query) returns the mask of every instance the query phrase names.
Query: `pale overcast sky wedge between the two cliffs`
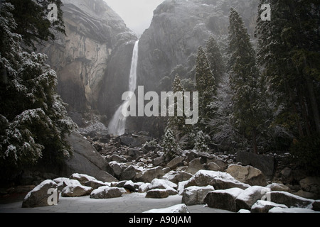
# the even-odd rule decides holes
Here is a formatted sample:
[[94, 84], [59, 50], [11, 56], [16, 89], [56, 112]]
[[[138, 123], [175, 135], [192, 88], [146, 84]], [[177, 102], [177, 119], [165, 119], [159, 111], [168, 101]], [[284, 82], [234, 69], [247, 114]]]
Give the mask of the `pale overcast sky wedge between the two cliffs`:
[[122, 17], [127, 27], [142, 35], [149, 28], [154, 10], [164, 0], [105, 0]]

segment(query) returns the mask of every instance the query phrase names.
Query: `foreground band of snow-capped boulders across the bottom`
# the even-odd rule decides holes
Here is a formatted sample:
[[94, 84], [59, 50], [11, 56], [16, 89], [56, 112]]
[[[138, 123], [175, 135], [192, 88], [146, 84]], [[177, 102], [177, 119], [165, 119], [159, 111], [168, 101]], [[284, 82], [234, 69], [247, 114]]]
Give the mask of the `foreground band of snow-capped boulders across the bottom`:
[[[157, 175], [159, 170], [154, 168], [149, 173]], [[286, 189], [284, 185], [275, 183], [266, 187], [250, 186], [226, 172], [210, 170], [199, 170], [195, 175], [171, 170], [166, 175], [161, 174], [159, 178], [148, 179], [146, 182], [101, 182], [95, 177], [76, 173], [70, 178], [60, 177], [42, 182], [27, 194], [22, 206], [30, 208], [53, 205], [49, 203], [50, 199], [57, 196], [58, 202], [59, 193], [54, 192], [61, 190], [63, 197], [89, 196], [91, 199], [117, 198], [126, 193], [144, 193], [147, 199], [181, 195], [181, 204], [166, 209], [151, 209], [147, 213], [188, 213], [187, 206], [198, 204], [240, 213], [319, 211], [319, 200], [284, 192]]]

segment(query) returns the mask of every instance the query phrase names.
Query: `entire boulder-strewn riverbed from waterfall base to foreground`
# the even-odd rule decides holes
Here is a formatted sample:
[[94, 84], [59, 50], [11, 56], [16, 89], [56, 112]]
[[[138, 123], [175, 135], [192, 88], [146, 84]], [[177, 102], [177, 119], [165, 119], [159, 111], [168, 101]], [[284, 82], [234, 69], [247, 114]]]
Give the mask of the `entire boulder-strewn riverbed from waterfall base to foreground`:
[[[57, 207], [59, 201], [65, 201], [64, 198], [70, 198], [68, 201], [72, 203], [72, 198], [76, 198], [75, 202], [79, 198], [92, 202], [114, 198], [121, 201], [127, 196], [138, 195], [143, 198], [141, 206], [148, 199], [161, 201], [174, 196], [175, 202], [167, 205], [181, 206], [169, 209], [173, 212], [188, 212], [185, 206], [201, 206], [201, 209], [208, 211], [264, 213], [320, 210], [320, 201], [317, 200], [319, 179], [306, 176], [295, 185], [285, 180], [281, 182], [287, 179], [287, 175], [277, 170], [281, 166], [277, 164], [278, 155], [256, 156], [241, 152], [227, 155], [181, 150], [176, 157], [169, 158], [161, 145], [145, 132], [114, 137], [91, 131], [82, 132], [82, 136], [75, 134], [74, 137], [78, 138], [75, 150], [85, 148], [82, 143], [91, 144], [95, 158], [99, 157], [99, 162], [103, 160], [103, 165], [97, 167], [100, 174], [87, 175], [82, 170], [73, 172], [69, 177], [64, 175], [43, 180], [36, 187], [24, 189], [28, 190], [28, 194], [21, 202], [22, 207], [28, 209], [52, 204], [48, 201], [54, 201], [55, 192], [48, 194], [48, 189], [56, 189], [56, 195], [60, 198], [56, 199]], [[285, 155], [281, 157], [284, 160]], [[80, 170], [80, 167], [73, 166], [73, 170]], [[150, 212], [156, 212], [154, 209], [157, 207], [154, 206]]]

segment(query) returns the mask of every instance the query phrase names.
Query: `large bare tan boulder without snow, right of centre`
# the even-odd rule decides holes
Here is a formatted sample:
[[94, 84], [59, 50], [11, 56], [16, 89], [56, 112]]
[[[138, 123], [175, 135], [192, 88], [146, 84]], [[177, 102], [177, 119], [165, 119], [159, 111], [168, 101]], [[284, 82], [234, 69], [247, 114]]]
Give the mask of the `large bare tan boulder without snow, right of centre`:
[[227, 172], [238, 179], [238, 181], [250, 184], [252, 186], [266, 186], [267, 180], [265, 179], [265, 175], [255, 167], [252, 166], [241, 166], [241, 165], [230, 165], [228, 167]]

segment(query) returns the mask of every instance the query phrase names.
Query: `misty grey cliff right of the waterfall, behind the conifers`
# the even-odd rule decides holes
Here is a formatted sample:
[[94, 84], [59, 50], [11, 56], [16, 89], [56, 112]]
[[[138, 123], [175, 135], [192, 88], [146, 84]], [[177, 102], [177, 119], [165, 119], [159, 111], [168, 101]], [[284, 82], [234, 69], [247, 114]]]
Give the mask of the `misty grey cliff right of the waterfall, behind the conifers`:
[[[181, 79], [194, 77], [196, 53], [199, 45], [206, 45], [210, 35], [223, 43], [228, 34], [230, 6], [235, 6], [245, 21], [250, 34], [255, 31], [257, 1], [251, 0], [175, 0], [164, 1], [154, 11], [151, 26], [139, 41], [138, 85], [147, 91], [171, 89], [178, 69]], [[225, 44], [221, 44], [224, 48]], [[170, 86], [159, 86], [161, 79], [169, 76]], [[154, 119], [154, 121], [156, 121]], [[150, 118], [130, 121], [132, 128], [150, 131], [157, 135], [163, 123]]]

